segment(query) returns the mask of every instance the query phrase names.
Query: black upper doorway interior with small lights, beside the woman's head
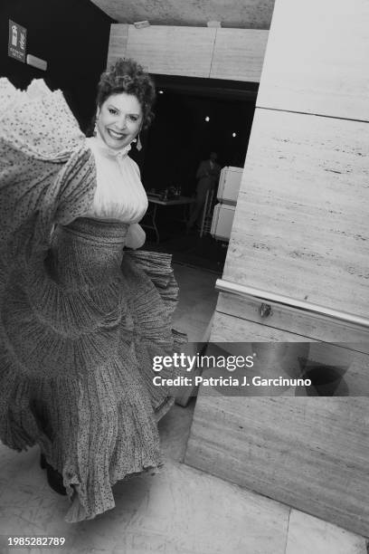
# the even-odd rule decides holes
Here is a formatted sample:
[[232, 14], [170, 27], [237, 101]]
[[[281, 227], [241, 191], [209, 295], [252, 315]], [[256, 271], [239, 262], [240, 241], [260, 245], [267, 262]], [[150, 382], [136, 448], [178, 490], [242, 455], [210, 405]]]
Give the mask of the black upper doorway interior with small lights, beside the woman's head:
[[156, 75], [156, 119], [137, 161], [147, 190], [195, 187], [200, 161], [210, 151], [221, 166], [243, 167], [257, 84]]

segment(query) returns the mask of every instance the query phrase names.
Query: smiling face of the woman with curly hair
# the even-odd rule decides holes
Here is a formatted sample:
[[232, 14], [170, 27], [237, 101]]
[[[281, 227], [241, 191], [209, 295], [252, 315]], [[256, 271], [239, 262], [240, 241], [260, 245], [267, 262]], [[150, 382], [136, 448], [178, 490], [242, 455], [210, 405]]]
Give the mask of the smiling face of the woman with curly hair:
[[133, 94], [112, 94], [98, 109], [96, 124], [99, 134], [109, 148], [128, 146], [142, 126], [142, 108]]

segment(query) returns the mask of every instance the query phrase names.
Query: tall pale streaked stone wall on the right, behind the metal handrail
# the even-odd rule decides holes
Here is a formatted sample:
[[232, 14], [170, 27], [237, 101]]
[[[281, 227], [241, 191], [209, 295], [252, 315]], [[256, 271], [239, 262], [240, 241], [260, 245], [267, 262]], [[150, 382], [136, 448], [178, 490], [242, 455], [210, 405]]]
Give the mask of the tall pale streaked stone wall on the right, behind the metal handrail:
[[[222, 275], [222, 290], [243, 286], [244, 297], [220, 297], [211, 334], [218, 342], [277, 341], [267, 345], [278, 354], [269, 371], [289, 368], [284, 347], [296, 348], [298, 360], [307, 348], [305, 368], [326, 376], [333, 366], [344, 376], [331, 394], [363, 396], [368, 24], [364, 0], [277, 0]], [[268, 295], [287, 301], [263, 320], [256, 305]], [[326, 316], [314, 322], [316, 312]], [[336, 320], [329, 312], [339, 312]], [[355, 349], [355, 339], [360, 346], [326, 350], [320, 341], [345, 340], [345, 317], [347, 346]], [[368, 398], [284, 393], [289, 397], [235, 397], [218, 387], [209, 396], [201, 389], [185, 462], [368, 536]]]

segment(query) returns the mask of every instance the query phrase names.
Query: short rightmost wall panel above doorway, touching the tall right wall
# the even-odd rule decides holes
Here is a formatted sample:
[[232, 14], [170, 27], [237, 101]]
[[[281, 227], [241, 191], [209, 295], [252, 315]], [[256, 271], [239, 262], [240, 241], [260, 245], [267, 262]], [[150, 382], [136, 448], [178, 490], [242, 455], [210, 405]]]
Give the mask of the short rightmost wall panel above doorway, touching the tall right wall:
[[217, 29], [212, 79], [259, 82], [268, 31]]

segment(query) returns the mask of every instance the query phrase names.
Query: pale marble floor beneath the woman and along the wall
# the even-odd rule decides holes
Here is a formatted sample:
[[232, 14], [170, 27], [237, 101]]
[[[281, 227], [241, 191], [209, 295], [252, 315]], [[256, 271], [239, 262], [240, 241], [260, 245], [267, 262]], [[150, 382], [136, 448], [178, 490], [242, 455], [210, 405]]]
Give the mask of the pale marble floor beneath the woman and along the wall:
[[[176, 266], [182, 285], [176, 327], [200, 340], [216, 275]], [[165, 466], [114, 487], [116, 508], [95, 520], [63, 521], [68, 500], [49, 488], [37, 448], [0, 444], [0, 554], [366, 554], [366, 541], [335, 525], [183, 463], [194, 412], [174, 406], [159, 424]], [[6, 537], [65, 537], [63, 549], [8, 549]]]

